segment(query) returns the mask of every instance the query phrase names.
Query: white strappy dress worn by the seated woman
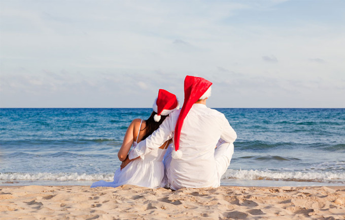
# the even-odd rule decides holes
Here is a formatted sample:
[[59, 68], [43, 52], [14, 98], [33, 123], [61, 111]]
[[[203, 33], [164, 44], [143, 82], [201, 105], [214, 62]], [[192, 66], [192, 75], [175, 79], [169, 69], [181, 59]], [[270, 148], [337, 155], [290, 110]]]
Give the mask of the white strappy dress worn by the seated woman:
[[[142, 125], [143, 120], [140, 123]], [[140, 127], [137, 137], [139, 137]], [[133, 142], [132, 148], [137, 145], [137, 139]], [[114, 181], [98, 181], [91, 185], [93, 187], [118, 187], [125, 184], [157, 188], [164, 186], [164, 165], [163, 157], [166, 151], [165, 149], [156, 148], [150, 153], [146, 154], [144, 158], [138, 158], [127, 164], [122, 170], [118, 168], [115, 171]]]

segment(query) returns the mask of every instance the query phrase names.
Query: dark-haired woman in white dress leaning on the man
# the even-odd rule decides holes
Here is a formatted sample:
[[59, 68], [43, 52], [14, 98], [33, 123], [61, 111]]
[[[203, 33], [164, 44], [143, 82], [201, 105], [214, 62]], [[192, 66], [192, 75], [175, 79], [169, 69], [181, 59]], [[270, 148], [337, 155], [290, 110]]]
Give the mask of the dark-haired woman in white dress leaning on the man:
[[147, 120], [134, 119], [127, 128], [122, 146], [118, 152], [120, 161], [128, 163], [124, 168], [117, 169], [113, 182], [98, 181], [91, 187], [118, 187], [124, 184], [156, 188], [161, 184], [164, 177], [163, 157], [171, 140], [162, 144], [158, 149], [152, 150], [142, 157], [128, 159], [130, 147], [149, 137], [168, 114], [179, 109], [179, 102], [174, 94], [165, 90], [159, 90], [158, 97], [153, 104], [153, 112]]

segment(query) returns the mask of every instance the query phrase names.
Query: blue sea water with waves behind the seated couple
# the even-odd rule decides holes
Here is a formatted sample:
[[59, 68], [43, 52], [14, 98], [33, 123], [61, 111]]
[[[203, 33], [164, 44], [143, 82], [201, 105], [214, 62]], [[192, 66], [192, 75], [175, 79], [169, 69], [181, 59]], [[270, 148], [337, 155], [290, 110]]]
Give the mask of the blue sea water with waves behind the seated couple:
[[[345, 184], [345, 109], [217, 109], [237, 133], [222, 185]], [[0, 185], [111, 181], [127, 126], [152, 109], [0, 109]]]

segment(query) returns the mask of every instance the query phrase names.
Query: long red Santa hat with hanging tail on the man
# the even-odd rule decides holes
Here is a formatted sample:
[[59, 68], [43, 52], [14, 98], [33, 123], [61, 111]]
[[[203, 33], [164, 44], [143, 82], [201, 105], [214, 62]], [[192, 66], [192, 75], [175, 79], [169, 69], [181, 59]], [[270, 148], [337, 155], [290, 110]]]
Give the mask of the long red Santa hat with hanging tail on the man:
[[172, 158], [178, 159], [182, 157], [182, 152], [179, 151], [180, 147], [180, 135], [183, 125], [189, 110], [193, 104], [199, 99], [206, 99], [211, 96], [212, 82], [195, 76], [186, 76], [185, 78], [185, 101], [180, 111], [180, 116], [176, 122], [174, 145], [175, 151], [172, 152]]

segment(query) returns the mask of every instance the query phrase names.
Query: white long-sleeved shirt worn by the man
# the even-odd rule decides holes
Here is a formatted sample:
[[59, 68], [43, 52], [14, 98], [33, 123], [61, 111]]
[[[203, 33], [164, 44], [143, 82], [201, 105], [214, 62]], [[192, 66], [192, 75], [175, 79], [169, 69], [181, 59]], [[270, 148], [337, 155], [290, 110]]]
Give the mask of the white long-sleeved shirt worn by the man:
[[[176, 110], [166, 117], [151, 136], [129, 152], [129, 159], [145, 155], [173, 138], [179, 114], [180, 110]], [[203, 104], [194, 104], [181, 129], [182, 158], [172, 158], [167, 172], [171, 189], [219, 187], [214, 152], [220, 138], [227, 143], [237, 138], [224, 114]]]

